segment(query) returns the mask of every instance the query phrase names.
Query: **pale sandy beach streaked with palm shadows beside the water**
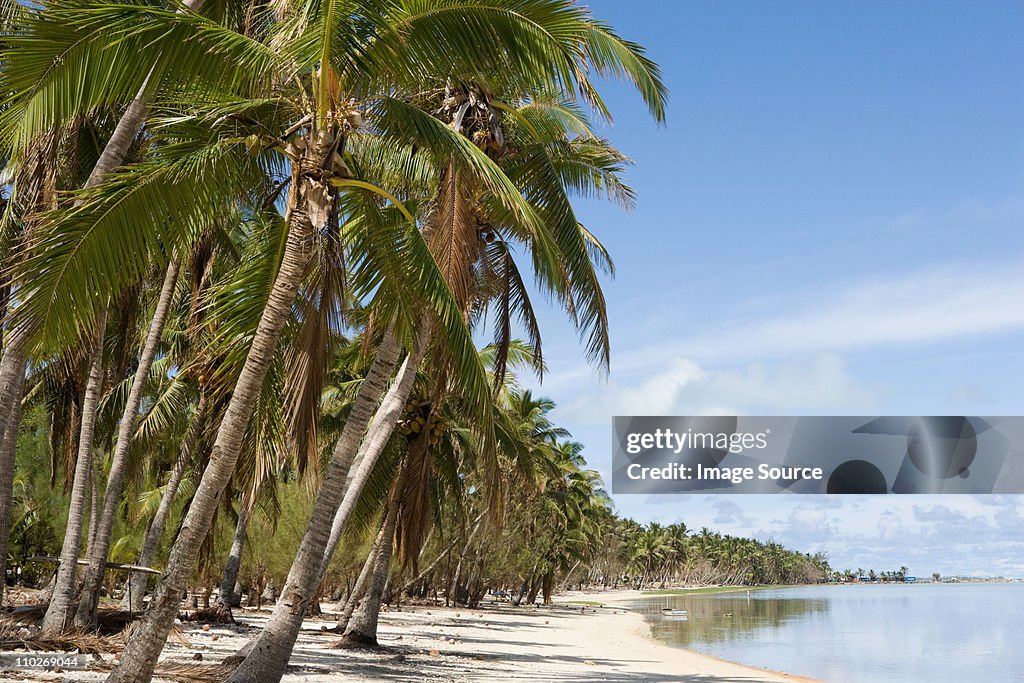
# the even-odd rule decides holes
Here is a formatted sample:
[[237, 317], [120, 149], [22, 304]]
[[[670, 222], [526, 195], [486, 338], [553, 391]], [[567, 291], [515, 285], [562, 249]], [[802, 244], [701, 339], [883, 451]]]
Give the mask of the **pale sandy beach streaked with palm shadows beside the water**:
[[[660, 644], [643, 617], [623, 603], [635, 591], [558, 596], [549, 607], [486, 604], [479, 609], [409, 606], [381, 614], [379, 650], [333, 648], [337, 636], [322, 629], [333, 620], [304, 624], [285, 681], [700, 681], [781, 683], [809, 679], [776, 674]], [[604, 606], [573, 604], [573, 601]], [[214, 665], [233, 654], [267, 612], [240, 610], [238, 626], [185, 624], [162, 661]], [[8, 653], [12, 654], [12, 653]], [[110, 661], [112, 657], [104, 659]], [[23, 672], [24, 674], [24, 672]], [[33, 673], [0, 680], [98, 681], [100, 672]]]

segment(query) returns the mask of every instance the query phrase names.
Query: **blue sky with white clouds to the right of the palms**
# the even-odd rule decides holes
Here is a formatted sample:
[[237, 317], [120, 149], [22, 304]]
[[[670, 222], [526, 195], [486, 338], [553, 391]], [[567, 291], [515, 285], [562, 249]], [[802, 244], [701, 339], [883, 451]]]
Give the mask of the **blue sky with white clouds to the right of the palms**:
[[[608, 474], [612, 415], [1022, 415], [1024, 4], [594, 1], [672, 90], [609, 85], [638, 209], [612, 372], [543, 313], [538, 390]], [[839, 567], [1024, 577], [1024, 497], [616, 496]]]

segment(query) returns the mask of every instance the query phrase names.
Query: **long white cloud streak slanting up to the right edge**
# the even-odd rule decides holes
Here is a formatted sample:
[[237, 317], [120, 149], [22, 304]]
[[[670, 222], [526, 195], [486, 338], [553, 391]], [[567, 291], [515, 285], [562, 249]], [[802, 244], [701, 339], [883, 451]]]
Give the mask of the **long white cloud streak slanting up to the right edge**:
[[[623, 354], [615, 368], [649, 367], [683, 354], [706, 364], [893, 344], [927, 343], [1024, 329], [1024, 263], [924, 268], [774, 302], [759, 319], [720, 323], [698, 334]], [[714, 323], [713, 323], [714, 325]], [[669, 333], [673, 331], [669, 330]]]

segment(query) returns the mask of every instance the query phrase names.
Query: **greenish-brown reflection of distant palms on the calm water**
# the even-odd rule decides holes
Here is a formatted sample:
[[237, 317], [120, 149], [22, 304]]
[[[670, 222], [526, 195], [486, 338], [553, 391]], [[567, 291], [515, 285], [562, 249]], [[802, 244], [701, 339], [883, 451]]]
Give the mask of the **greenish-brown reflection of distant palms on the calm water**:
[[[765, 597], [770, 593], [771, 597]], [[822, 598], [782, 598], [775, 591], [721, 595], [672, 595], [644, 600], [637, 611], [651, 622], [659, 640], [683, 646], [763, 637], [764, 631], [787, 622], [826, 614], [829, 601]], [[685, 609], [685, 617], [664, 614], [663, 609]]]

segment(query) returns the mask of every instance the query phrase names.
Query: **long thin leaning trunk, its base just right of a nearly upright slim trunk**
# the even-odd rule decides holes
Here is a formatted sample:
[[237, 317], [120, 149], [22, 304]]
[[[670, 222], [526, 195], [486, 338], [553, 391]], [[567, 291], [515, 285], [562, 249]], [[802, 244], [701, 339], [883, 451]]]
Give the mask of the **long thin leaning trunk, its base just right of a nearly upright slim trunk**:
[[[92, 512], [94, 518], [98, 515], [98, 526], [95, 537], [89, 543], [89, 568], [85, 574], [78, 613], [75, 615], [75, 625], [81, 629], [91, 629], [96, 626], [99, 589], [103, 582], [106, 556], [111, 552], [114, 517], [117, 514], [118, 505], [121, 503], [121, 488], [124, 485], [125, 470], [128, 466], [128, 451], [135, 434], [135, 425], [138, 423], [138, 407], [142, 402], [142, 392], [145, 389], [146, 379], [150, 377], [150, 369], [157, 356], [160, 338], [164, 334], [164, 325], [167, 323], [167, 315], [171, 310], [179, 269], [180, 263], [172, 255], [171, 262], [167, 266], [167, 273], [164, 275], [164, 284], [160, 290], [157, 308], [154, 311], [153, 321], [150, 323], [150, 332], [145, 338], [145, 344], [142, 346], [138, 368], [135, 369], [131, 391], [128, 393], [128, 400], [125, 403], [124, 413], [121, 415], [117, 446], [114, 450], [114, 457], [111, 459], [111, 473], [108, 476], [106, 493], [103, 497], [102, 513], [98, 509], [93, 509]], [[98, 486], [94, 487], [92, 500], [94, 502], [99, 500]]]

